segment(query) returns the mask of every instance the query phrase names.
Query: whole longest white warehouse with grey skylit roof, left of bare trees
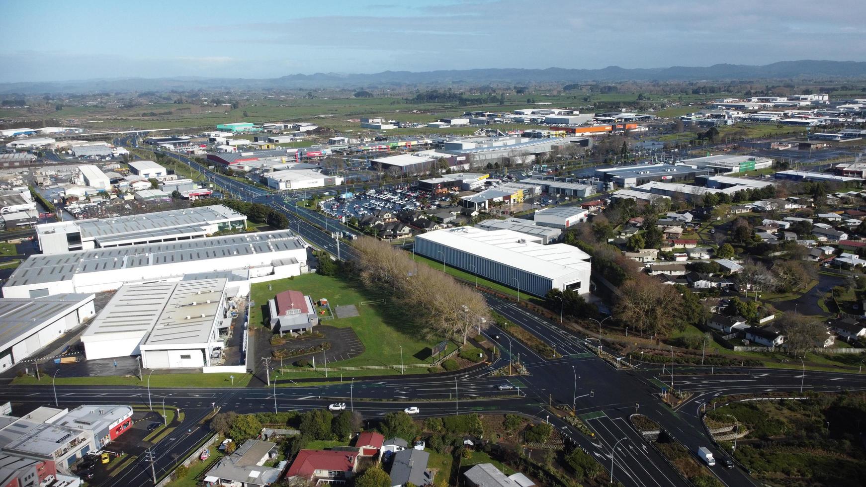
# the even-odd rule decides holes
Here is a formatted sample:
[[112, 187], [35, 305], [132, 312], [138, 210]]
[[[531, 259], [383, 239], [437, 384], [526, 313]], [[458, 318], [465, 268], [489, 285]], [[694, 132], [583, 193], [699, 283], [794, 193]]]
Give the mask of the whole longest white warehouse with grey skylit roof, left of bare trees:
[[114, 291], [121, 285], [187, 273], [249, 269], [256, 282], [307, 270], [307, 244], [289, 230], [132, 247], [31, 255], [3, 286], [5, 298]]

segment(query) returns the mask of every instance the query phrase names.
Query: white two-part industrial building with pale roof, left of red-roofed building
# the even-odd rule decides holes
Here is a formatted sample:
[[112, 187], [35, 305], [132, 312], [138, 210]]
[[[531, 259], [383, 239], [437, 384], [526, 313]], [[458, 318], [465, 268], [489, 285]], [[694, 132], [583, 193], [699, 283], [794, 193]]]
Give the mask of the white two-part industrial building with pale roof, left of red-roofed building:
[[226, 279], [123, 285], [81, 335], [87, 360], [141, 356], [144, 368], [212, 364], [228, 327]]

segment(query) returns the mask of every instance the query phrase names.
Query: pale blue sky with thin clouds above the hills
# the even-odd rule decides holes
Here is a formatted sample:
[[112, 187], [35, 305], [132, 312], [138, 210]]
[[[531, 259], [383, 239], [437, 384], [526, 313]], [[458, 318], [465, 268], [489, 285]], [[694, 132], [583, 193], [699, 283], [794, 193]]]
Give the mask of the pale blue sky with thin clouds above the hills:
[[0, 0], [0, 82], [866, 61], [866, 1]]

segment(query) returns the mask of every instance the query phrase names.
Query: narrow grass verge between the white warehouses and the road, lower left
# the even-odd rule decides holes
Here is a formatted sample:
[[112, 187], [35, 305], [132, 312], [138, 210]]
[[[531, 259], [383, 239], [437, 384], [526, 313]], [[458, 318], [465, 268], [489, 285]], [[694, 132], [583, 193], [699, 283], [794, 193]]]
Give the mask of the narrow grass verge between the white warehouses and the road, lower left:
[[[153, 374], [151, 375], [152, 388], [223, 388], [231, 386], [229, 375], [233, 374]], [[243, 387], [249, 383], [252, 377], [249, 374], [234, 374], [235, 386]], [[51, 384], [51, 377], [42, 376], [42, 381], [36, 381], [34, 375], [16, 377], [13, 384]], [[122, 375], [105, 375], [94, 377], [57, 377], [55, 384], [67, 386], [145, 386], [144, 381], [138, 377], [125, 377]], [[160, 406], [162, 406], [160, 404]], [[161, 410], [161, 408], [160, 408]]]

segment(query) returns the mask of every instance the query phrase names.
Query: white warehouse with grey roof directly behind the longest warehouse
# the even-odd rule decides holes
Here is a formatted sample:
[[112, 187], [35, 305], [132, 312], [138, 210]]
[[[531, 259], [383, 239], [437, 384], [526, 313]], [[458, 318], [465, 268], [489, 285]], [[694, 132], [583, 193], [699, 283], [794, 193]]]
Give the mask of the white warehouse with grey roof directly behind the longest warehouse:
[[36, 226], [36, 237], [42, 253], [51, 254], [198, 239], [246, 226], [246, 215], [224, 205], [212, 205], [45, 223]]

